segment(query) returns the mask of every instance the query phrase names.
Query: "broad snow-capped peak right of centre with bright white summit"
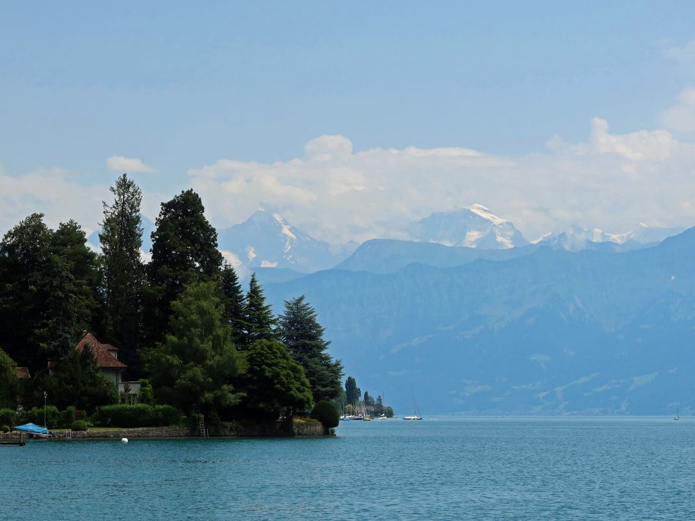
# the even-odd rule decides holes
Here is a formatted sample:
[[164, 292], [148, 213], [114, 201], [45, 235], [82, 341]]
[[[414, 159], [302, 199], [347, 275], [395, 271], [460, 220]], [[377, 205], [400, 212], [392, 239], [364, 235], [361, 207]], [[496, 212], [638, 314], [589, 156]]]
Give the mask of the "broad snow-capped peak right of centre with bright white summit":
[[511, 221], [502, 219], [482, 204], [432, 213], [409, 226], [421, 242], [479, 249], [509, 249], [528, 244]]

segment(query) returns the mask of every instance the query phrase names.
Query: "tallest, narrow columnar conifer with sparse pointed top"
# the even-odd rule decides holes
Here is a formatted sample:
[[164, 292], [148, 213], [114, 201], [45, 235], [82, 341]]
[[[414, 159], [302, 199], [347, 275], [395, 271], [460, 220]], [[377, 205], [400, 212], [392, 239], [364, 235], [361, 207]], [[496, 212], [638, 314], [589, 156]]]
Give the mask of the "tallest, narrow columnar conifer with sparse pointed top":
[[137, 349], [142, 330], [145, 270], [142, 249], [142, 190], [123, 174], [111, 188], [113, 204], [104, 201], [101, 222], [101, 280], [104, 286], [104, 329], [120, 350], [131, 378], [138, 374]]

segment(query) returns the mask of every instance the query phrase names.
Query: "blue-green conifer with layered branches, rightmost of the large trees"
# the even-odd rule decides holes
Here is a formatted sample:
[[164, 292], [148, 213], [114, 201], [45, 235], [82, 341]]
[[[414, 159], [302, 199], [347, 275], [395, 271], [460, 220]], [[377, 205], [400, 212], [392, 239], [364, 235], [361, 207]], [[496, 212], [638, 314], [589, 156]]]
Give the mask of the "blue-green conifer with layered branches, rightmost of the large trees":
[[326, 351], [331, 342], [323, 339], [325, 329], [316, 320], [316, 310], [304, 295], [285, 301], [279, 317], [278, 338], [297, 363], [304, 367], [314, 402], [330, 400], [341, 392], [343, 364]]

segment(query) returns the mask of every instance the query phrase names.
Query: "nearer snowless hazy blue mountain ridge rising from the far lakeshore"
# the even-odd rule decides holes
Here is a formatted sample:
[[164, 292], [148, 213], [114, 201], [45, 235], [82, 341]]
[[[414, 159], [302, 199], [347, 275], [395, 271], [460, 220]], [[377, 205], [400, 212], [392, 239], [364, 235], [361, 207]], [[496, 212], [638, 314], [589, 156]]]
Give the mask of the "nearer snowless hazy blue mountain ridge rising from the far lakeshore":
[[623, 253], [516, 250], [265, 290], [276, 312], [306, 295], [347, 372], [403, 415], [414, 395], [426, 413], [695, 413], [695, 229]]

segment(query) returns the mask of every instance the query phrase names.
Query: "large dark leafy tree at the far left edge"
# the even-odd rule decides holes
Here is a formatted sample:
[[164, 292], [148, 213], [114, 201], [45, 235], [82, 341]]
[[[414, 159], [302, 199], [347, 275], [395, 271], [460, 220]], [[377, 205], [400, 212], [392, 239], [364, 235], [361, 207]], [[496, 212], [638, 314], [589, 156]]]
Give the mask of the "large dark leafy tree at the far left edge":
[[33, 213], [0, 242], [0, 345], [19, 365], [45, 367], [45, 295], [40, 279], [52, 231]]

